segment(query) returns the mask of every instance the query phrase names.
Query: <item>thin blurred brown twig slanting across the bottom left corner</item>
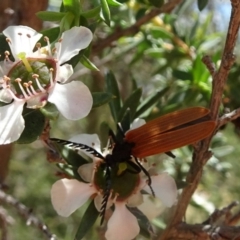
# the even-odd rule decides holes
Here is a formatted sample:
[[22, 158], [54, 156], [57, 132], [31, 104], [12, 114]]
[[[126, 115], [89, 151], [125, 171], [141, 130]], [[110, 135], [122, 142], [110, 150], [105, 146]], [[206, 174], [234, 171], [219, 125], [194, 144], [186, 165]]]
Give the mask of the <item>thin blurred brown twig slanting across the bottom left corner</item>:
[[27, 225], [37, 227], [49, 240], [56, 240], [56, 236], [50, 233], [47, 225], [41, 222], [33, 213], [32, 210], [27, 208], [24, 204], [20, 203], [11, 195], [6, 194], [0, 190], [0, 200], [8, 205], [13, 206], [17, 212], [26, 220]]

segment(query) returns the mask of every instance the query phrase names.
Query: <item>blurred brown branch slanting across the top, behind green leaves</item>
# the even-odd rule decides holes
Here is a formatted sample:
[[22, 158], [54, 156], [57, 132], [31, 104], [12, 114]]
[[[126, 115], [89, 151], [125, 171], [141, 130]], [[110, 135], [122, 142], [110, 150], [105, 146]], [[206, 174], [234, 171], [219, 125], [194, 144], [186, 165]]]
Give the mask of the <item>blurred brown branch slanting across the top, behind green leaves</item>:
[[146, 23], [148, 23], [152, 18], [156, 17], [161, 13], [170, 13], [182, 0], [169, 0], [166, 4], [164, 4], [161, 8], [154, 8], [145, 16], [140, 18], [135, 24], [131, 27], [125, 29], [116, 29], [111, 35], [102, 40], [97, 40], [96, 43], [93, 44], [92, 53], [94, 55], [99, 54], [103, 49], [112, 45], [112, 43], [123, 36], [133, 36], [139, 32], [140, 27]]

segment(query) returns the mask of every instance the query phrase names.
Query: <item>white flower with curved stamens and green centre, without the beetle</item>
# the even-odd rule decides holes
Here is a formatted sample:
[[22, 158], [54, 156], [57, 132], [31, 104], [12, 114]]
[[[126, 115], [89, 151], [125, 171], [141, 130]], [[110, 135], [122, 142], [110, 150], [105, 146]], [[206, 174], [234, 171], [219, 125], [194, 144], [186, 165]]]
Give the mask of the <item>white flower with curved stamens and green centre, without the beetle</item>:
[[[54, 103], [59, 112], [70, 120], [85, 117], [92, 107], [92, 96], [80, 81], [67, 80], [73, 74], [72, 66], [64, 64], [86, 48], [92, 33], [85, 27], [73, 27], [62, 34], [51, 50], [36, 44], [42, 34], [26, 26], [10, 26], [3, 31], [15, 59], [0, 62], [0, 144], [16, 141], [24, 130], [22, 110], [43, 107], [47, 101]], [[38, 50], [33, 52], [34, 47]]]

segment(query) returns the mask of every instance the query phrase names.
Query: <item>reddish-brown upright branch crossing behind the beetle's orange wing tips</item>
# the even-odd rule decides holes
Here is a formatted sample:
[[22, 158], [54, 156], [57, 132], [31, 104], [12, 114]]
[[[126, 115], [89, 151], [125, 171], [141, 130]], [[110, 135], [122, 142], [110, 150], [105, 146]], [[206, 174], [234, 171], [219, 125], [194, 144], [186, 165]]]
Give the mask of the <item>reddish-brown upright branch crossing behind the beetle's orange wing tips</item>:
[[[213, 75], [213, 92], [211, 97], [210, 110], [211, 117], [212, 119], [215, 120], [217, 120], [218, 118], [218, 111], [221, 104], [224, 85], [227, 81], [229, 71], [234, 62], [233, 50], [236, 44], [239, 24], [240, 24], [240, 1], [232, 0], [231, 20], [229, 23], [225, 48], [221, 59], [221, 65], [218, 71]], [[171, 222], [161, 235], [160, 239], [164, 240], [171, 239], [171, 237], [174, 235], [174, 226], [182, 221], [182, 218], [185, 215], [191, 197], [195, 190], [197, 189], [197, 186], [201, 180], [203, 167], [205, 163], [209, 160], [209, 158], [212, 156], [212, 153], [209, 152], [208, 150], [211, 138], [212, 137], [209, 137], [204, 141], [199, 142], [198, 145], [195, 146], [192, 164], [186, 179], [186, 181], [189, 184], [183, 189], [182, 194], [179, 197], [178, 204], [175, 208], [176, 210], [172, 216]]]

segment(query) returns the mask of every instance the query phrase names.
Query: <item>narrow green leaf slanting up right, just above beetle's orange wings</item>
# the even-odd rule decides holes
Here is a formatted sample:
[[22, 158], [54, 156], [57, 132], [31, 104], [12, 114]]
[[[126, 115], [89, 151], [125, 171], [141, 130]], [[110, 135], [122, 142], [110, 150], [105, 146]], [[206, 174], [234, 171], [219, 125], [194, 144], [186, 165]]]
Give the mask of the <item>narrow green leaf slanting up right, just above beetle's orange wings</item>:
[[148, 111], [154, 104], [156, 104], [161, 97], [165, 95], [165, 93], [168, 92], [170, 87], [165, 87], [164, 89], [156, 92], [156, 94], [149, 96], [146, 98], [138, 107], [138, 110], [134, 116], [134, 118], [138, 118], [140, 115], [144, 114], [146, 111]]

